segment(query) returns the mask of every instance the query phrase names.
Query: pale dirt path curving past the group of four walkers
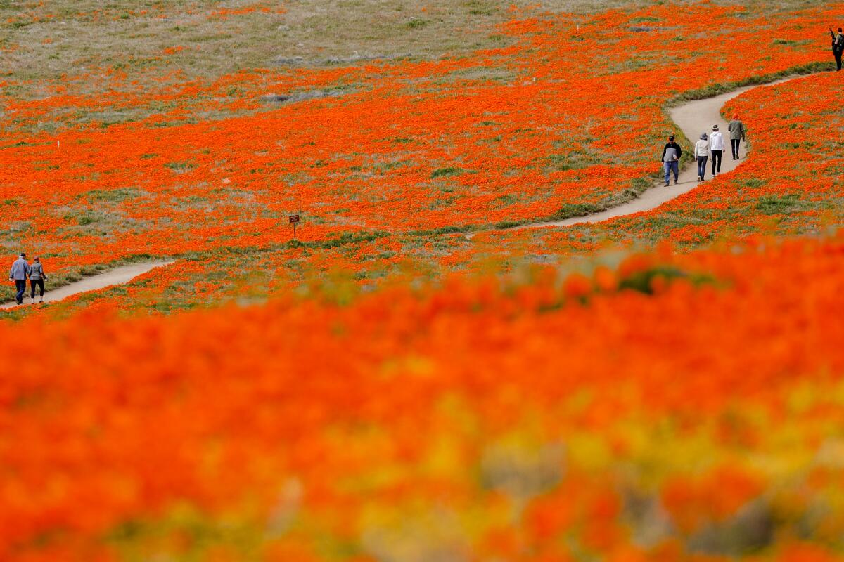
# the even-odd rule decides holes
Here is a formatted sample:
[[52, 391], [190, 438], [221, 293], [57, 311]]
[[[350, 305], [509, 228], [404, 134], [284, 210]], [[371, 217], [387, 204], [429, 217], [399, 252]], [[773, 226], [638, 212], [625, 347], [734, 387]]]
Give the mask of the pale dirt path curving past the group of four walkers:
[[[671, 119], [679, 126], [684, 135], [691, 141], [695, 142], [700, 138], [702, 132], [706, 134], [711, 133], [712, 126], [716, 125], [724, 135], [724, 155], [721, 165], [721, 174], [728, 174], [736, 169], [747, 155], [744, 142], [742, 142], [739, 150], [739, 157], [741, 159], [733, 160], [730, 150], [729, 133], [727, 131], [727, 122], [721, 117], [721, 108], [730, 99], [736, 98], [745, 92], [754, 88], [768, 88], [793, 80], [794, 78], [803, 78], [802, 76], [792, 76], [777, 80], [776, 82], [760, 84], [758, 86], [748, 86], [745, 88], [738, 88], [726, 94], [717, 95], [713, 98], [697, 99], [690, 101], [687, 104], [679, 105], [670, 110]], [[684, 151], [691, 150], [692, 147], [682, 147]], [[654, 166], [659, 165], [654, 162]], [[706, 181], [712, 180], [711, 156], [709, 162], [706, 163]], [[716, 179], [717, 181], [717, 179]], [[602, 222], [615, 217], [625, 217], [641, 211], [651, 211], [662, 205], [666, 201], [671, 201], [679, 195], [683, 195], [699, 185], [697, 181], [697, 166], [690, 164], [684, 169], [680, 170], [679, 184], [674, 185], [674, 178], [671, 180], [669, 187], [664, 187], [663, 180], [659, 179], [654, 183], [654, 186], [645, 190], [641, 195], [632, 201], [622, 203], [619, 206], [610, 207], [606, 211], [600, 211], [591, 215], [584, 215], [583, 217], [571, 217], [562, 221], [550, 222], [532, 222], [515, 227], [521, 228], [539, 228], [539, 227], [567, 227], [572, 224], [583, 224], [587, 222]]]

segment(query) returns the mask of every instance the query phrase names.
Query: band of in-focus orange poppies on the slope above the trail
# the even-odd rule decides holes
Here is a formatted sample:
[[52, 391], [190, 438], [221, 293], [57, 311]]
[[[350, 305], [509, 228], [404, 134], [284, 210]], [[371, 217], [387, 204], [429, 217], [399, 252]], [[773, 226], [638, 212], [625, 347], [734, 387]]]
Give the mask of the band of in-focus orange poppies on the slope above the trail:
[[[830, 12], [513, 16], [500, 29], [511, 45], [433, 62], [247, 69], [144, 91], [123, 71], [96, 95], [62, 94], [60, 80], [37, 102], [7, 94], [0, 242], [63, 270], [277, 247], [290, 213], [301, 239], [321, 241], [587, 212], [647, 185], [673, 131], [669, 99], [824, 60]], [[304, 94], [263, 99], [279, 92]], [[71, 118], [126, 106], [149, 116]], [[50, 120], [55, 131], [26, 132]]]

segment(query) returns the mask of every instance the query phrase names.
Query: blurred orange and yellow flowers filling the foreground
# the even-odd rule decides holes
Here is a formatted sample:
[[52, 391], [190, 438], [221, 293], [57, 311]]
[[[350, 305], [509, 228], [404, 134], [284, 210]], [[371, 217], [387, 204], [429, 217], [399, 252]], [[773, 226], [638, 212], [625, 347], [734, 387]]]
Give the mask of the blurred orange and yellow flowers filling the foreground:
[[842, 258], [2, 324], [0, 559], [836, 559]]

